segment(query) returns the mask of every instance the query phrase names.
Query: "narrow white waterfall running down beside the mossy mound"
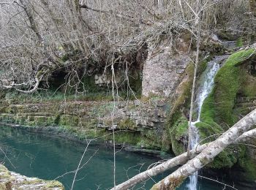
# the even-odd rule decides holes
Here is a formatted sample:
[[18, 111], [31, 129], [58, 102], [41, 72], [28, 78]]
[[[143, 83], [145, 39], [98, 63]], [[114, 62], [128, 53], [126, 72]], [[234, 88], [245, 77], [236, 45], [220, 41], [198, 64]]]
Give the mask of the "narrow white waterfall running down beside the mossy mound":
[[[203, 101], [206, 99], [206, 97], [211, 93], [211, 90], [214, 86], [214, 77], [217, 74], [219, 70], [219, 63], [221, 63], [223, 60], [225, 60], [227, 56], [217, 56], [214, 58], [213, 61], [208, 62], [208, 66], [206, 68], [206, 71], [203, 72], [202, 75], [202, 83], [200, 84], [195, 104], [197, 107], [197, 121], [192, 122], [191, 129], [192, 129], [192, 137], [191, 137], [191, 143], [190, 143], [190, 149], [195, 148], [197, 145], [197, 142], [199, 142], [199, 133], [197, 132], [197, 128], [195, 126], [195, 123], [200, 122], [200, 113], [203, 106]], [[187, 184], [187, 189], [189, 190], [196, 190], [197, 189], [197, 172], [194, 173], [194, 175], [189, 176], [189, 183]]]

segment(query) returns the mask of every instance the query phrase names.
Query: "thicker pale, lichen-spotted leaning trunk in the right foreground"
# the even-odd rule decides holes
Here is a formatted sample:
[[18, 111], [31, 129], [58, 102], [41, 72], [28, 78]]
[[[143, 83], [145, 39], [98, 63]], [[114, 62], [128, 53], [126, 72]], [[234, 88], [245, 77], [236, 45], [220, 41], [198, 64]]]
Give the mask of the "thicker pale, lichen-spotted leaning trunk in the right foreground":
[[236, 140], [256, 124], [256, 109], [242, 118], [238, 123], [232, 126], [227, 132], [222, 134], [214, 142], [211, 142], [200, 154], [194, 159], [178, 168], [171, 175], [155, 184], [152, 189], [176, 189], [184, 179], [192, 175], [197, 170], [203, 168], [206, 164], [214, 160], [214, 158], [221, 153], [228, 145], [233, 144]]

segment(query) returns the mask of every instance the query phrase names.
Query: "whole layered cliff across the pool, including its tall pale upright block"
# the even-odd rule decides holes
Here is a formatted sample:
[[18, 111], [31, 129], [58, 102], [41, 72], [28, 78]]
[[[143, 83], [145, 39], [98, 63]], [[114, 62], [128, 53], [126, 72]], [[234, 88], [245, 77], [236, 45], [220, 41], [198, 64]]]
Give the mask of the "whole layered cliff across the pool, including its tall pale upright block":
[[[121, 91], [128, 84], [134, 91], [133, 95], [137, 96], [142, 91], [143, 97], [140, 99], [129, 102], [121, 99], [115, 102], [46, 99], [33, 103], [26, 96], [22, 104], [18, 97], [5, 96], [0, 103], [0, 119], [23, 126], [53, 126], [57, 130], [75, 134], [80, 140], [102, 137], [99, 140], [112, 142], [112, 135], [106, 134], [114, 129], [116, 142], [120, 144], [170, 151], [170, 137], [165, 127], [171, 107], [170, 96], [180, 91], [180, 83], [187, 80], [186, 69], [189, 65], [187, 54], [173, 55], [172, 47], [163, 42], [157, 49], [148, 47], [148, 58], [138, 68], [132, 67], [128, 72], [126, 67], [114, 68], [115, 91], [116, 86]], [[113, 83], [109, 68], [103, 74], [99, 73], [94, 72], [83, 80], [89, 85], [88, 91], [93, 91], [96, 96], [104, 89], [110, 90], [108, 88]]]

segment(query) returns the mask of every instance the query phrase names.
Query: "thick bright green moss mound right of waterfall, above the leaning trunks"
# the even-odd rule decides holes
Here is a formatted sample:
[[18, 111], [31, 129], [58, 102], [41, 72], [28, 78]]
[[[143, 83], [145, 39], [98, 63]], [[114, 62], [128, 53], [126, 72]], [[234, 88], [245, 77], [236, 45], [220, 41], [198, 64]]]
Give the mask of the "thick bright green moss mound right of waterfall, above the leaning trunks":
[[236, 94], [243, 81], [241, 64], [252, 56], [254, 50], [242, 50], [231, 55], [219, 69], [214, 79], [213, 91], [203, 103], [200, 120], [206, 123], [215, 121], [232, 126], [237, 118], [233, 115]]

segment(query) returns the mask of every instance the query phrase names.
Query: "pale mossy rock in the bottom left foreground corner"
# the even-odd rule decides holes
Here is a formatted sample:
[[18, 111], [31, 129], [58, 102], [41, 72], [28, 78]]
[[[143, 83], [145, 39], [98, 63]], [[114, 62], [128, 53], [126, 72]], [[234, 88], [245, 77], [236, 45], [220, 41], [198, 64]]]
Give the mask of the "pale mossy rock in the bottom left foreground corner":
[[56, 180], [40, 180], [38, 178], [28, 178], [15, 172], [10, 172], [0, 164], [0, 189], [49, 189], [49, 190], [64, 190], [59, 181]]

